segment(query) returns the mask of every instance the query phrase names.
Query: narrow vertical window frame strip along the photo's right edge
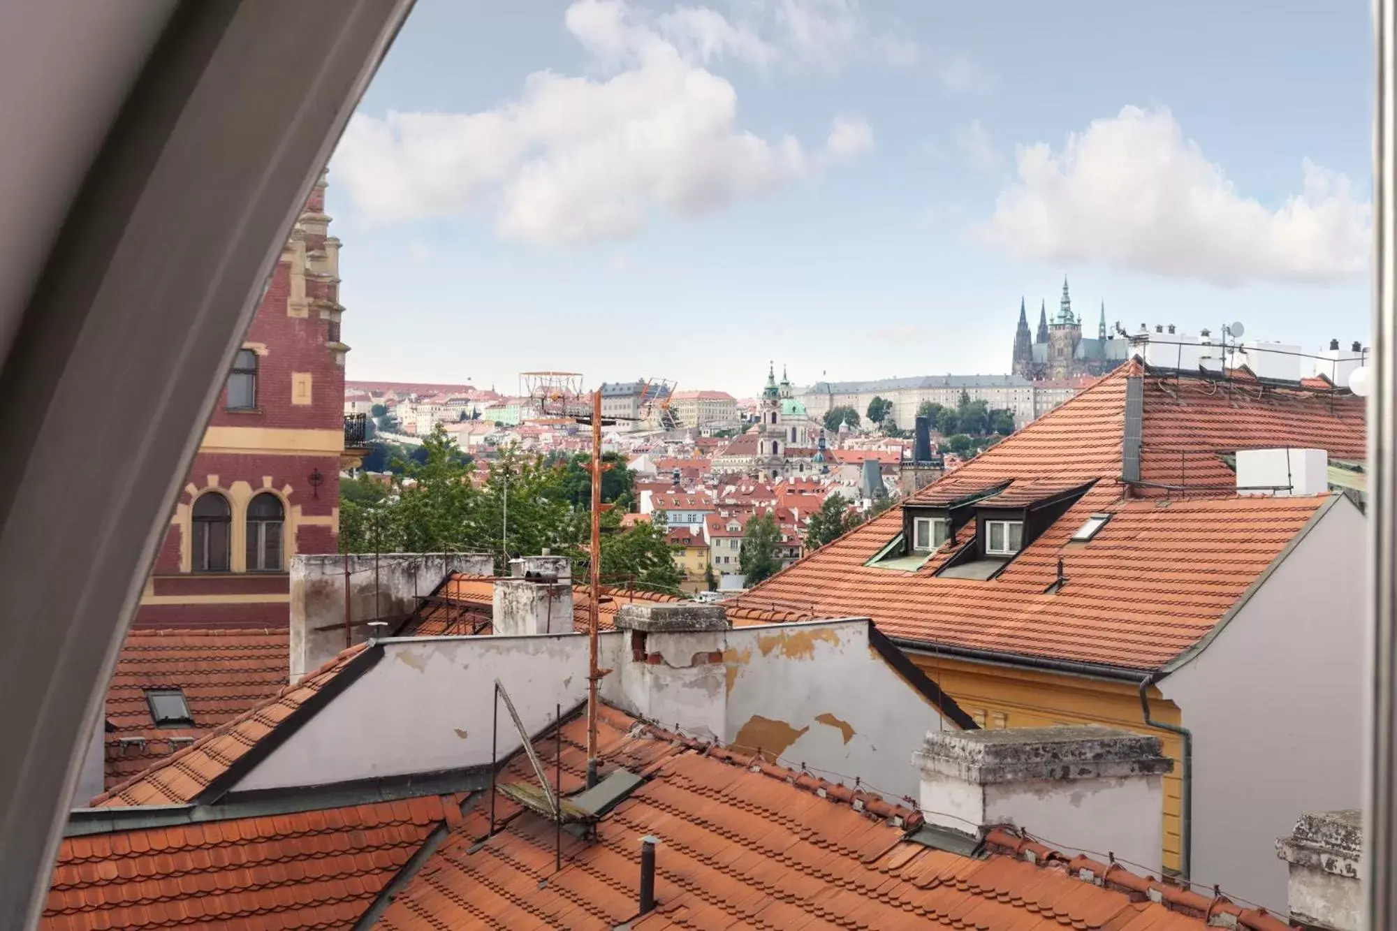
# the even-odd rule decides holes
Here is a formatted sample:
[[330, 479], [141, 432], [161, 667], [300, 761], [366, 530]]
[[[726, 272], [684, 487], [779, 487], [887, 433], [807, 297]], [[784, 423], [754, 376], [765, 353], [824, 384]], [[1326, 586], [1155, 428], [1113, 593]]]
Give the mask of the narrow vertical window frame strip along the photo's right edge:
[[1372, 699], [1368, 713], [1370, 746], [1368, 805], [1363, 809], [1365, 917], [1362, 927], [1379, 931], [1397, 923], [1397, 254], [1393, 247], [1397, 197], [1397, 0], [1373, 3], [1377, 59], [1377, 109], [1373, 124], [1373, 377], [1368, 400], [1368, 467], [1372, 507], [1368, 514]]

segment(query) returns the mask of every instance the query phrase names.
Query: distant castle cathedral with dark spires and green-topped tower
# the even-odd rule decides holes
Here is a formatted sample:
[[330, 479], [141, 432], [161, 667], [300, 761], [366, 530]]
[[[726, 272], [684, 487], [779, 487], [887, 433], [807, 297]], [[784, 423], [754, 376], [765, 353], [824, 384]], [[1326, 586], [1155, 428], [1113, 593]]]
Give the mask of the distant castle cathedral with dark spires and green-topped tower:
[[1046, 302], [1038, 310], [1037, 337], [1028, 330], [1028, 315], [1018, 299], [1018, 327], [1014, 331], [1013, 373], [1030, 382], [1065, 380], [1106, 375], [1130, 355], [1130, 342], [1106, 333], [1106, 305], [1101, 305], [1095, 338], [1083, 337], [1083, 320], [1071, 310], [1067, 280], [1062, 280], [1062, 303], [1048, 320]]

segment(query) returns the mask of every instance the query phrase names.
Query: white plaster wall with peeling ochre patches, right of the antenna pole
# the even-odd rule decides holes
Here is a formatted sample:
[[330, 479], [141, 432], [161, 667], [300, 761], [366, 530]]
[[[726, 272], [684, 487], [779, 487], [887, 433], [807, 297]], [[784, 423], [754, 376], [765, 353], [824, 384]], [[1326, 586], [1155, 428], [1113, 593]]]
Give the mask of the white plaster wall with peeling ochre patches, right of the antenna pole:
[[869, 646], [863, 619], [650, 633], [645, 651], [659, 661], [634, 660], [629, 633], [604, 643], [602, 665], [615, 670], [604, 698], [884, 794], [915, 798], [912, 751], [928, 731], [954, 728]]

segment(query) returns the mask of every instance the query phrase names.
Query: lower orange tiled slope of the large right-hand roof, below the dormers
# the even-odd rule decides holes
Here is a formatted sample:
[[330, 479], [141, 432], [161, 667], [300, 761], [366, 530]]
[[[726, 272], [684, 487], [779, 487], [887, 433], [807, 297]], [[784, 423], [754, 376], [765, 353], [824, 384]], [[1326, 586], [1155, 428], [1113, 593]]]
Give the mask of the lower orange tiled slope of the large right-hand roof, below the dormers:
[[[992, 499], [990, 499], [992, 500]], [[1101, 485], [988, 582], [865, 566], [901, 531], [894, 509], [773, 576], [736, 607], [781, 619], [870, 615], [891, 637], [1154, 670], [1189, 649], [1329, 496], [1119, 500]], [[1112, 519], [1087, 544], [1069, 537]], [[957, 540], [964, 542], [968, 530]], [[1067, 583], [1048, 591], [1063, 561]], [[742, 615], [729, 609], [731, 618]]]

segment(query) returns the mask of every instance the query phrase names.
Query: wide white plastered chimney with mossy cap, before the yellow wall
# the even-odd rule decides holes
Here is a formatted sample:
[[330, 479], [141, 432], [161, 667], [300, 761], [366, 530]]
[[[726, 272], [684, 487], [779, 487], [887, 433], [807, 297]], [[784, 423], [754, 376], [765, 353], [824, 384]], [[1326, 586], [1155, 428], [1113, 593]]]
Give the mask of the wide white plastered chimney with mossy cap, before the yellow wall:
[[1051, 846], [1161, 869], [1160, 738], [1108, 727], [930, 731], [912, 753], [929, 825], [981, 839], [1014, 826]]

